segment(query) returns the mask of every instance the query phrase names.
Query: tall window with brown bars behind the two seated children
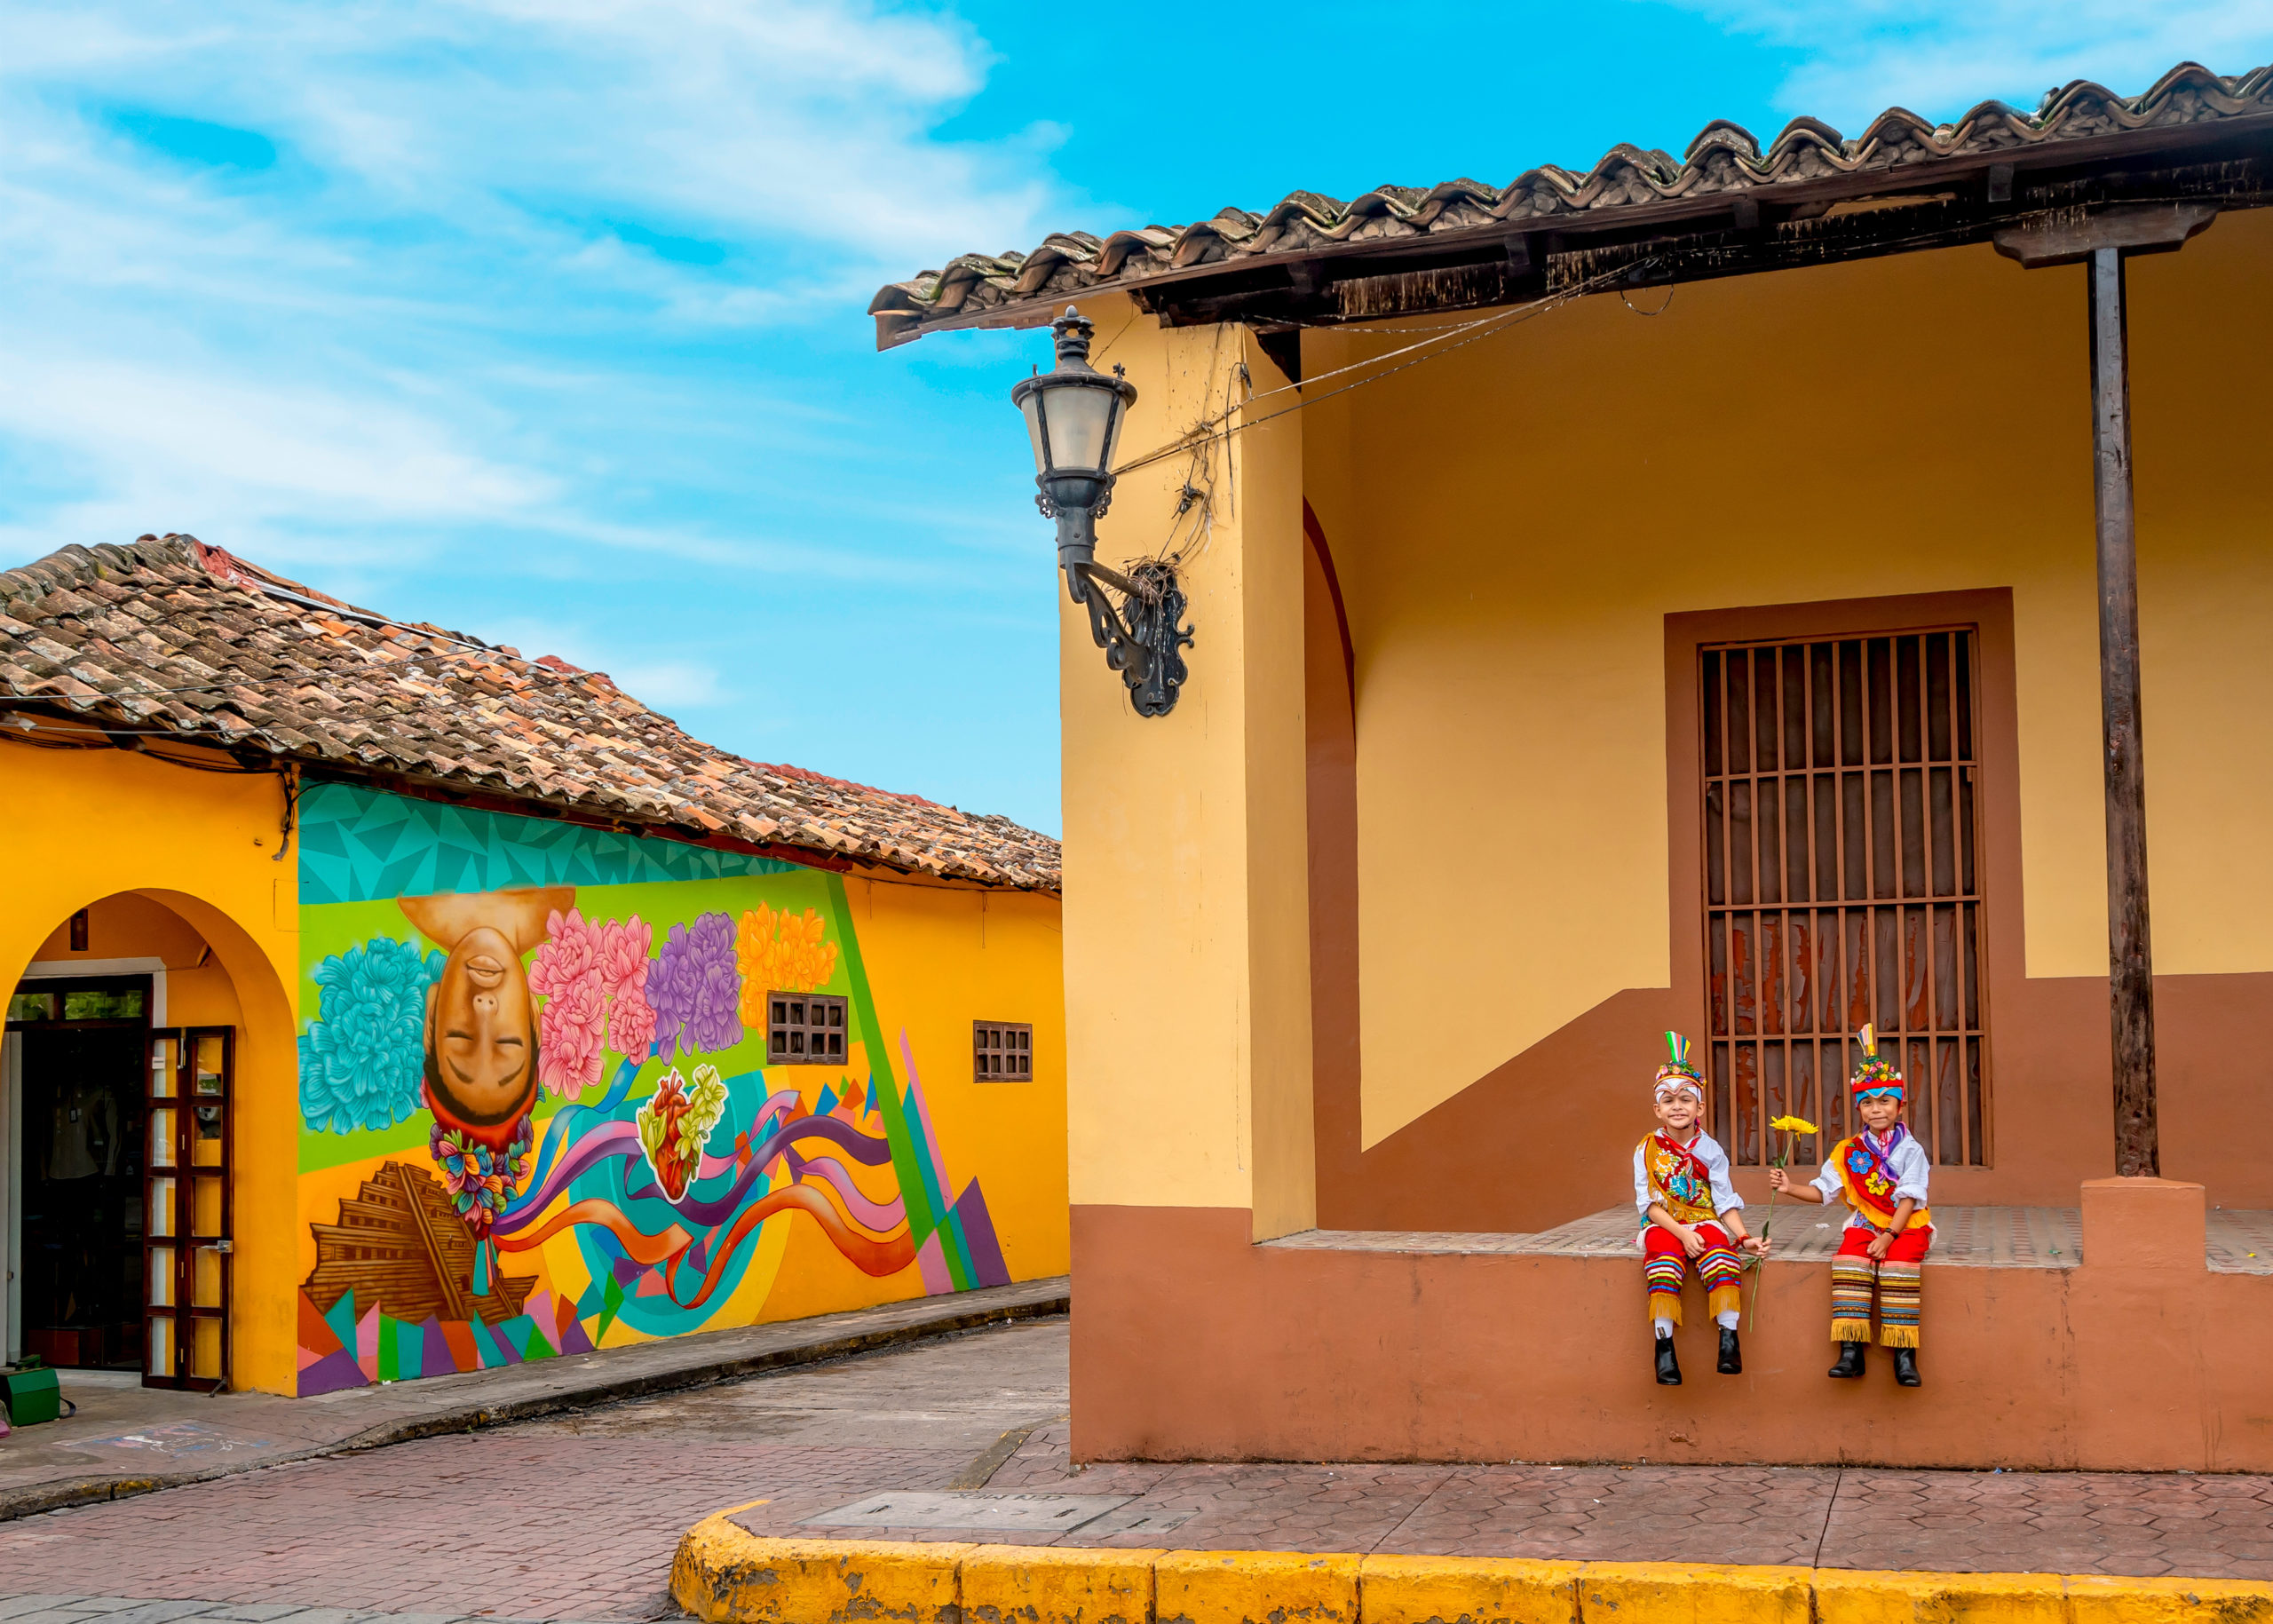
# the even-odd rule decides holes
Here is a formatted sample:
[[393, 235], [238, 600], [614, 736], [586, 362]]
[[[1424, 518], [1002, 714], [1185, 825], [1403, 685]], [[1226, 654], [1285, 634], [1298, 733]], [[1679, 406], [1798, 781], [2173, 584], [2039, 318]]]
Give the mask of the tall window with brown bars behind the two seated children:
[[1780, 1115], [1855, 1130], [1857, 1033], [1943, 1167], [1989, 1165], [1973, 628], [1702, 648], [1712, 1119], [1757, 1167]]

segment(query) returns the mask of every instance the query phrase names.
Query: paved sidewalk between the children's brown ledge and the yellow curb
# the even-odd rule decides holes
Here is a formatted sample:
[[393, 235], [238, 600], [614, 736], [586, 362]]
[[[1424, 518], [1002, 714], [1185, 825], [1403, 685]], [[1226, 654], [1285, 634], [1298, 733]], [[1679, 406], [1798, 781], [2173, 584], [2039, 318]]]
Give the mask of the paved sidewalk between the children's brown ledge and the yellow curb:
[[[989, 1494], [1132, 1494], [1048, 1538], [925, 1526], [859, 1538], [1071, 1547], [1396, 1551], [1571, 1560], [1798, 1563], [1857, 1569], [2273, 1579], [2273, 1478], [1875, 1467], [1089, 1465], [1036, 1431]], [[761, 1494], [750, 1478], [750, 1494]], [[916, 1488], [916, 1485], [907, 1485]], [[780, 1492], [750, 1533], [850, 1538], [848, 1501]], [[1114, 1524], [1136, 1517], [1132, 1533]]]

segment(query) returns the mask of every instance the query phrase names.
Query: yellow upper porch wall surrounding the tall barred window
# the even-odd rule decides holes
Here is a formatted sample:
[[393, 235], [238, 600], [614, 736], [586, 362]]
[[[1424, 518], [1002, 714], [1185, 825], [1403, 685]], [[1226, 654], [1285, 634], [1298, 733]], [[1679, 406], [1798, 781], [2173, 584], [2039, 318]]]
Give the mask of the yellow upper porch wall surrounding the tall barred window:
[[[2273, 350], [2268, 268], [2259, 214], [2130, 271], [2162, 973], [2273, 967], [2273, 671], [2246, 653], [2273, 412], [2230, 382]], [[1312, 332], [1305, 368], [1407, 341]], [[2028, 973], [2105, 973], [2080, 268], [1968, 248], [1659, 316], [1589, 298], [1305, 419], [1357, 653], [1366, 1144], [1668, 983], [1668, 612], [2012, 587]]]

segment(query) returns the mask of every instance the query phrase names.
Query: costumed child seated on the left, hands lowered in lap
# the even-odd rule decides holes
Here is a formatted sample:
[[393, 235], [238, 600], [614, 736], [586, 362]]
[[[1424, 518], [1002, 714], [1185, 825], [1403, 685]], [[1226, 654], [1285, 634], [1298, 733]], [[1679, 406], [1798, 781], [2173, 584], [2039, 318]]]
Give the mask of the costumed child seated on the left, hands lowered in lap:
[[1721, 1374], [1743, 1372], [1737, 1310], [1743, 1301], [1739, 1251], [1764, 1258], [1768, 1242], [1743, 1233], [1743, 1201], [1727, 1180], [1727, 1151], [1698, 1128], [1705, 1117], [1705, 1078], [1689, 1039], [1666, 1033], [1666, 1064], [1657, 1067], [1652, 1096], [1657, 1133], [1634, 1146], [1634, 1208], [1641, 1212], [1641, 1278], [1650, 1292], [1657, 1331], [1657, 1381], [1682, 1385], [1673, 1358], [1673, 1326], [1682, 1321], [1682, 1281], [1696, 1262], [1705, 1281], [1705, 1310], [1721, 1326]]

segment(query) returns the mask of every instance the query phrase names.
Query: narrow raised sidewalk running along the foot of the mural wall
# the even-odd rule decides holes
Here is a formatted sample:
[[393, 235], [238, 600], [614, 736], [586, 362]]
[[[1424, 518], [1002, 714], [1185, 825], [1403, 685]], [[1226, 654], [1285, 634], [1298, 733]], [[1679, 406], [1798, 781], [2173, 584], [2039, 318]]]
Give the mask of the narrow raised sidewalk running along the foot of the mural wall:
[[1059, 1312], [1064, 1276], [316, 1399], [161, 1392], [61, 1372], [80, 1415], [0, 1444], [0, 1522]]

